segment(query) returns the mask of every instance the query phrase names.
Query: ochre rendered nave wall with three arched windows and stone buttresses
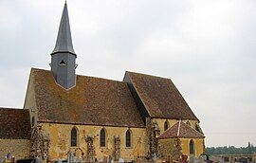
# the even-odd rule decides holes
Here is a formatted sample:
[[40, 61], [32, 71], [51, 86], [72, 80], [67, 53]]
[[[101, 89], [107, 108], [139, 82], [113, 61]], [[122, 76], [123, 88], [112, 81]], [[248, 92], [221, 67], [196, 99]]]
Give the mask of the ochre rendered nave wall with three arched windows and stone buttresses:
[[[82, 157], [83, 160], [97, 158], [98, 161], [106, 160], [109, 156], [112, 159], [120, 157], [124, 160], [132, 160], [137, 156], [145, 156], [148, 152], [145, 128], [56, 123], [40, 123], [40, 125], [42, 125], [44, 133], [48, 134], [50, 138], [49, 160], [66, 159], [69, 151], [74, 154], [77, 149], [80, 149], [78, 151], [79, 154], [76, 154], [77, 157]], [[78, 145], [76, 147], [71, 147], [70, 143], [73, 127], [78, 131]], [[100, 132], [102, 128], [106, 131], [105, 147], [100, 147]], [[131, 131], [132, 147], [126, 147], [125, 145], [125, 133], [127, 130]], [[117, 136], [119, 136], [119, 142], [115, 143], [115, 137]], [[92, 140], [89, 141], [88, 137], [91, 137], [90, 139]], [[93, 147], [91, 147], [92, 145]], [[87, 154], [92, 155], [88, 156]]]

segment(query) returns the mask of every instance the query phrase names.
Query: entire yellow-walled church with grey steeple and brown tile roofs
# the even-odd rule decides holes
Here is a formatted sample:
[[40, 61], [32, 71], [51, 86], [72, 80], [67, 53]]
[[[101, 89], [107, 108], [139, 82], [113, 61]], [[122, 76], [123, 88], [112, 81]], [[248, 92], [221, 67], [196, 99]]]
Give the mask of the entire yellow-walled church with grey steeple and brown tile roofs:
[[0, 159], [178, 161], [204, 153], [200, 120], [170, 79], [76, 74], [66, 3], [50, 57], [50, 70], [31, 68], [24, 108], [0, 108]]

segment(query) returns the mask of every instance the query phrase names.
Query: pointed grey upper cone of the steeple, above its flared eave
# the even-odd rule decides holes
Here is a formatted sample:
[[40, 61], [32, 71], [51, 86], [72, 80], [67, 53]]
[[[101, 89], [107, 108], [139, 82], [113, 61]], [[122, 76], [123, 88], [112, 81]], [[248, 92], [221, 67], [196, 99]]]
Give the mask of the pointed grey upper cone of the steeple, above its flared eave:
[[73, 49], [66, 1], [64, 3], [64, 11], [62, 15], [61, 24], [59, 27], [59, 33], [58, 33], [56, 45], [51, 55], [58, 52], [61, 52], [61, 53], [68, 52], [77, 56]]

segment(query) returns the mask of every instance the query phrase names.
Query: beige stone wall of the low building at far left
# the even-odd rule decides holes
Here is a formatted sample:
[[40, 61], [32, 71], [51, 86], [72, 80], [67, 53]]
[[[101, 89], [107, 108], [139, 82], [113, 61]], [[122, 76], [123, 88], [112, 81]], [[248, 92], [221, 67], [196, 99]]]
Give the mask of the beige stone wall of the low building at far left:
[[0, 160], [8, 153], [15, 159], [29, 158], [29, 139], [0, 139]]

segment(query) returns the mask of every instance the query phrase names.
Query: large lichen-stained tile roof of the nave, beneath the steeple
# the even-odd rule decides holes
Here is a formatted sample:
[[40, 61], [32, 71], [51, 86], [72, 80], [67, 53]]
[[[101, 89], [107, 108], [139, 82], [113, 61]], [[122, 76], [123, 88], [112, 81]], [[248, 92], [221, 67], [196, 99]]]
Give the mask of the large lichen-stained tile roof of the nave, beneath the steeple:
[[109, 126], [145, 127], [127, 83], [77, 75], [65, 90], [50, 71], [31, 69], [38, 120]]

